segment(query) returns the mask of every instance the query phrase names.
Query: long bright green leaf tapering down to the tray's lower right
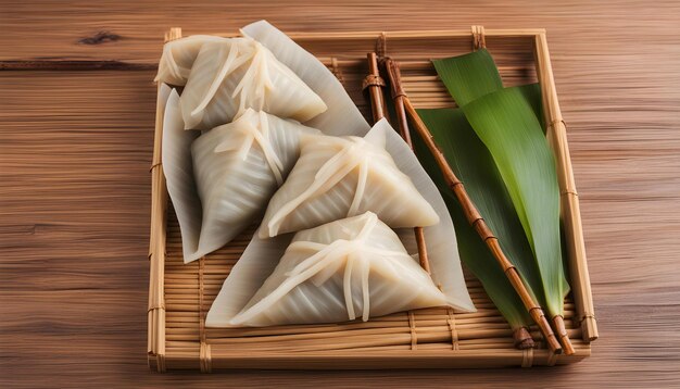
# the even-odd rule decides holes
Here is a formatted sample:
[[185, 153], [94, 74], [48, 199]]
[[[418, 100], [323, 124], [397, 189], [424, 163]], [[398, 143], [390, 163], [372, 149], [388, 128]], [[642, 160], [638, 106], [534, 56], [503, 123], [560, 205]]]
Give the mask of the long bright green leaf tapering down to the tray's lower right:
[[541, 274], [551, 315], [562, 315], [568, 284], [562, 262], [559, 187], [555, 159], [525, 86], [501, 89], [463, 105], [507, 187]]

